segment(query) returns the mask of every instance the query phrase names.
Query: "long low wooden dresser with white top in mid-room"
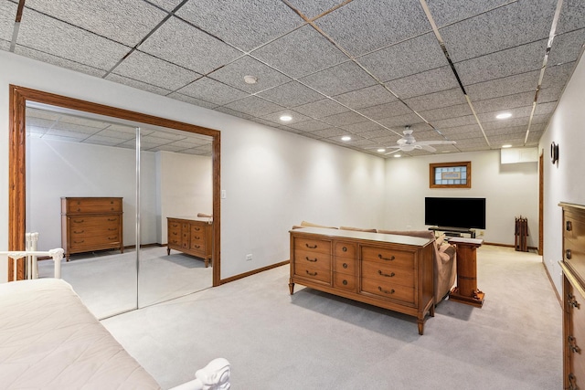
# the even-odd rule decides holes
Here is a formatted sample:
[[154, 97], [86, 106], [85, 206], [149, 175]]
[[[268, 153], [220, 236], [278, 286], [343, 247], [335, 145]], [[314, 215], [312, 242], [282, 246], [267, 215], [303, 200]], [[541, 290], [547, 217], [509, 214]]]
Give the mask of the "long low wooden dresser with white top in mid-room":
[[434, 316], [431, 239], [321, 227], [290, 234], [291, 295], [299, 283], [399, 311], [423, 334], [426, 313]]

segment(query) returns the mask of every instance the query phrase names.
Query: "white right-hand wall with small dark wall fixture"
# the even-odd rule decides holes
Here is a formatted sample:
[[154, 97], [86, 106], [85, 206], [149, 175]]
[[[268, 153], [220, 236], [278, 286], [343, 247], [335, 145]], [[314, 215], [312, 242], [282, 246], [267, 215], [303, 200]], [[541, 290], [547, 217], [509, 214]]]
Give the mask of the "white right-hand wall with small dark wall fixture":
[[[558, 293], [562, 291], [562, 209], [559, 202], [585, 205], [585, 61], [577, 69], [563, 92], [558, 107], [539, 142], [544, 150], [544, 254], [543, 260]], [[558, 164], [549, 158], [550, 142], [558, 143]]]

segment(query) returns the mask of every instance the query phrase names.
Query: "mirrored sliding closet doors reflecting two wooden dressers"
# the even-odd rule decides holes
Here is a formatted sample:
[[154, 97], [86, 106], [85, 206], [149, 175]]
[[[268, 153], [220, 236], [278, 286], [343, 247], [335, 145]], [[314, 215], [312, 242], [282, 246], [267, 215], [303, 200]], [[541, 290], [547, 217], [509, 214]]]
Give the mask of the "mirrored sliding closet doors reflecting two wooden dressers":
[[213, 285], [214, 137], [36, 102], [26, 124], [26, 231], [96, 317]]

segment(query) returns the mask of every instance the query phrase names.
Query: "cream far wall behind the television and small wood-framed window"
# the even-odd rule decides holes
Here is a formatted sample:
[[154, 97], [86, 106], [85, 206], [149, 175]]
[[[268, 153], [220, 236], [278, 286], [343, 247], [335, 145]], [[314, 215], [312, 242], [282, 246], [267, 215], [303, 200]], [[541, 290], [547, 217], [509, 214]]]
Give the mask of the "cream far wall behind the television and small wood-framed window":
[[[471, 188], [430, 188], [430, 163], [463, 161], [472, 162]], [[515, 217], [524, 216], [528, 218], [528, 247], [537, 247], [537, 171], [537, 163], [500, 164], [498, 150], [388, 159], [385, 227], [426, 229], [425, 196], [484, 197], [485, 242], [514, 245]]]

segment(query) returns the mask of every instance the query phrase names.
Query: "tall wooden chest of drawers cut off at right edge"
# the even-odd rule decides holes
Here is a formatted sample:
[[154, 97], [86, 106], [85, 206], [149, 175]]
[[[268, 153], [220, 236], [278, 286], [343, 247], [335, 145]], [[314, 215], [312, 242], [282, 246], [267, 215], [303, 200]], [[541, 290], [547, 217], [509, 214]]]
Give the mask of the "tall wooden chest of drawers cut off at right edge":
[[585, 389], [585, 206], [563, 209], [563, 388]]

